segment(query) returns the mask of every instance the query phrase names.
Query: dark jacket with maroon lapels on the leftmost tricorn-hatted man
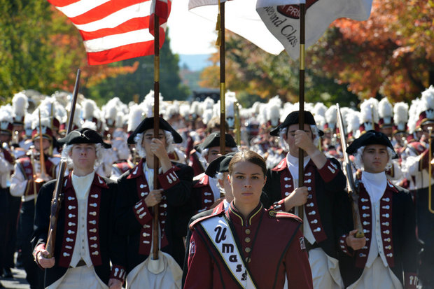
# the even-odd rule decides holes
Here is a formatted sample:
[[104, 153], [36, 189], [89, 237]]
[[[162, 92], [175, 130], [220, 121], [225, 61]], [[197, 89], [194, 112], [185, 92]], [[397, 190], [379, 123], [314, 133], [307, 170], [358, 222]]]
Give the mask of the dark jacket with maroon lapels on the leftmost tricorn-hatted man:
[[[42, 186], [36, 201], [34, 220], [34, 254], [45, 246], [50, 225], [50, 206], [56, 180]], [[113, 232], [116, 202], [116, 182], [95, 173], [87, 196], [87, 241], [95, 272], [104, 283], [109, 278], [125, 278], [125, 244]], [[55, 266], [45, 269], [45, 286], [49, 286], [66, 273], [76, 244], [78, 202], [71, 174], [64, 178], [64, 197], [60, 203], [55, 241]], [[113, 264], [110, 269], [110, 263]]]

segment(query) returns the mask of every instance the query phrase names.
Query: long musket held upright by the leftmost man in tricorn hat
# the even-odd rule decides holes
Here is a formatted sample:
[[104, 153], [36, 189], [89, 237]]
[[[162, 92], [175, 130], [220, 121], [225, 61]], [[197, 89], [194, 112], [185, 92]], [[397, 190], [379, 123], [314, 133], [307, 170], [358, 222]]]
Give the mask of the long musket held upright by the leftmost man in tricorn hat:
[[[69, 113], [68, 127], [66, 129], [66, 135], [71, 132], [73, 125], [73, 115], [76, 111], [76, 102], [78, 88], [80, 87], [80, 74], [81, 70], [77, 70], [76, 84], [73, 87], [73, 94], [71, 100], [71, 112]], [[52, 192], [51, 199], [51, 211], [50, 211], [50, 227], [48, 230], [47, 244], [45, 244], [45, 250], [48, 251], [47, 258], [52, 258], [55, 250], [56, 230], [57, 230], [57, 217], [59, 216], [60, 204], [63, 200], [62, 185], [63, 177], [66, 171], [66, 159], [62, 157], [59, 163], [59, 172], [57, 174], [57, 181], [54, 192]]]

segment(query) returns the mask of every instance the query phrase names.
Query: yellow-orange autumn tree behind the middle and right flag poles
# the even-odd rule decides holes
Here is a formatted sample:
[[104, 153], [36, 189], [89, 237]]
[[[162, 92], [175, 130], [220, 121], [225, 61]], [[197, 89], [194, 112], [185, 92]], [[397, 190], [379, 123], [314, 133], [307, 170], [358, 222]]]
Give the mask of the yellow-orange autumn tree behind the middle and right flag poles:
[[[259, 95], [269, 99], [279, 95], [283, 101], [297, 102], [299, 98], [299, 66], [288, 57], [286, 52], [270, 55], [253, 43], [236, 34], [226, 32], [226, 87], [243, 95]], [[202, 71], [203, 87], [219, 85], [219, 53], [211, 55], [212, 66]], [[346, 90], [345, 84], [336, 83], [326, 76], [316, 76], [307, 69], [305, 80], [305, 99], [309, 102], [323, 101], [333, 104], [339, 101], [349, 106], [357, 97]], [[321, 94], [328, 92], [330, 99]]]

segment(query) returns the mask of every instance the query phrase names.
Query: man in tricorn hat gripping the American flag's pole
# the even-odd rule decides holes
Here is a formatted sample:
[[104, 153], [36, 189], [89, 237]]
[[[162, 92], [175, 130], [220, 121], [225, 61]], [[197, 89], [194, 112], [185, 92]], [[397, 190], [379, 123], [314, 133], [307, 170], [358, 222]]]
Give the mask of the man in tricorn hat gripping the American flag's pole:
[[[190, 209], [193, 169], [171, 162], [168, 155], [173, 144], [181, 143], [182, 138], [163, 118], [159, 118], [157, 138], [153, 127], [154, 118], [145, 118], [130, 135], [128, 143], [136, 144], [141, 160], [118, 178], [116, 230], [128, 239], [128, 288], [143, 288], [148, 282], [146, 262], [153, 246], [160, 246], [162, 252], [169, 254], [167, 260], [179, 272], [181, 286], [183, 237], [193, 215]], [[158, 163], [154, 162], [154, 156], [158, 157]], [[158, 174], [160, 188], [154, 187], [154, 174]], [[160, 244], [153, 244], [153, 206], [158, 206]]]

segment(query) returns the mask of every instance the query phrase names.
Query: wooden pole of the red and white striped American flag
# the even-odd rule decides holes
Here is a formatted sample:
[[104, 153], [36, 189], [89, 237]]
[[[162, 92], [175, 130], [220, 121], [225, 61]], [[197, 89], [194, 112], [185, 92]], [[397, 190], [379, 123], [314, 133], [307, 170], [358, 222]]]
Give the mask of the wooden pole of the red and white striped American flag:
[[[160, 134], [160, 21], [154, 13], [154, 138]], [[154, 155], [154, 190], [158, 188], [158, 157]], [[158, 260], [160, 244], [158, 230], [158, 204], [153, 208], [153, 260]]]

